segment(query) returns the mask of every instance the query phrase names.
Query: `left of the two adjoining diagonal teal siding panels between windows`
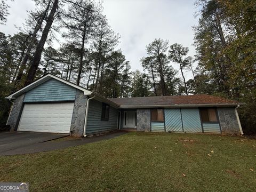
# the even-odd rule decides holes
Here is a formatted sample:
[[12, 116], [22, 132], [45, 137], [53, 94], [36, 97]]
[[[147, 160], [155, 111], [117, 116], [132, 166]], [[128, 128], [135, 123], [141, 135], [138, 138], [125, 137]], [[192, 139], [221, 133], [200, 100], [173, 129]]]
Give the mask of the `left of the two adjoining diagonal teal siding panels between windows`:
[[171, 132], [182, 132], [180, 109], [165, 109], [165, 129]]

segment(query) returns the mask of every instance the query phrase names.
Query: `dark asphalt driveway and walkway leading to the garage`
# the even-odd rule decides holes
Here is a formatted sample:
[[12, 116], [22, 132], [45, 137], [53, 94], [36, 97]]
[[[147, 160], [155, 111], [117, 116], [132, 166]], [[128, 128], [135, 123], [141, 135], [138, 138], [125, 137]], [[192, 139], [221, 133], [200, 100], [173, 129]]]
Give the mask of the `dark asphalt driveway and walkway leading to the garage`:
[[[125, 134], [125, 132], [113, 132], [106, 135], [70, 138], [67, 134], [38, 133], [38, 132], [4, 132], [0, 133], [0, 156], [30, 154], [55, 149], [63, 149], [85, 143], [111, 139]], [[63, 137], [67, 137], [63, 138]], [[63, 140], [55, 140], [63, 138]]]

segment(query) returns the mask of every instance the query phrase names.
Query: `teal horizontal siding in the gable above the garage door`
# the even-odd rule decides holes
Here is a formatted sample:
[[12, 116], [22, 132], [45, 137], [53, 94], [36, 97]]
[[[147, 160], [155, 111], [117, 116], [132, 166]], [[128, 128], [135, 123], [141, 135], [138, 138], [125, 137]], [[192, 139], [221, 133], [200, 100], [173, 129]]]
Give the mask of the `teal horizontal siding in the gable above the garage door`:
[[50, 79], [25, 94], [24, 102], [72, 101], [76, 89], [56, 79]]

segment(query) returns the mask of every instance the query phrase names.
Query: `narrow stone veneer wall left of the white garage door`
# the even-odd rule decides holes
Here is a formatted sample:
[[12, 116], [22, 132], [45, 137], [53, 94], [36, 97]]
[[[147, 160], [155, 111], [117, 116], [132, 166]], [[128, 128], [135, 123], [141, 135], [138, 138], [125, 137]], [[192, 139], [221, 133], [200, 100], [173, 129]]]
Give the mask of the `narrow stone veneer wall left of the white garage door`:
[[10, 131], [15, 131], [18, 128], [24, 97], [25, 94], [20, 95], [17, 99], [15, 99], [13, 103], [11, 114], [9, 116], [8, 122], [6, 123], [7, 125], [10, 125]]

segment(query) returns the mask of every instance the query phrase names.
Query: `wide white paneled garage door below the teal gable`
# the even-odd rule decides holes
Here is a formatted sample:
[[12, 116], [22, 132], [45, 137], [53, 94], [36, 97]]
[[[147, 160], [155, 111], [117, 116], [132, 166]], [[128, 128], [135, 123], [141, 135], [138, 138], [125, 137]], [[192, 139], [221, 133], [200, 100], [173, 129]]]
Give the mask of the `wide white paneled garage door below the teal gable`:
[[69, 133], [74, 102], [25, 104], [18, 131]]

